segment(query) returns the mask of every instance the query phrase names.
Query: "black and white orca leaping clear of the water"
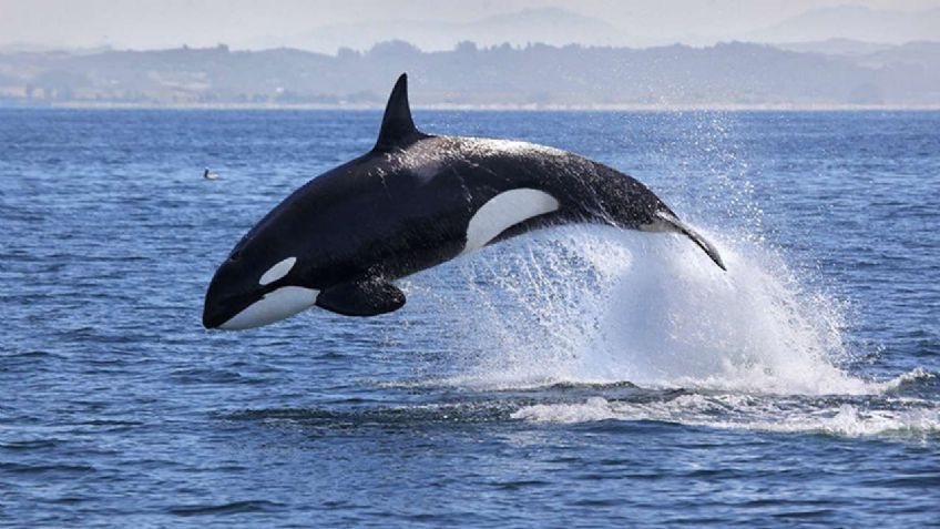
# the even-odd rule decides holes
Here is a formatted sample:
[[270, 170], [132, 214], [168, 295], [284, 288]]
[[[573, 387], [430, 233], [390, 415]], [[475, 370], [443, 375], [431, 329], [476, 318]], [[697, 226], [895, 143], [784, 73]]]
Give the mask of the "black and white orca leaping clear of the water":
[[375, 147], [315, 177], [235, 245], [205, 297], [206, 328], [267, 325], [316, 305], [374, 316], [405, 305], [392, 281], [532, 230], [600, 223], [674, 232], [725, 269], [645, 185], [576, 154], [419, 131], [401, 74]]

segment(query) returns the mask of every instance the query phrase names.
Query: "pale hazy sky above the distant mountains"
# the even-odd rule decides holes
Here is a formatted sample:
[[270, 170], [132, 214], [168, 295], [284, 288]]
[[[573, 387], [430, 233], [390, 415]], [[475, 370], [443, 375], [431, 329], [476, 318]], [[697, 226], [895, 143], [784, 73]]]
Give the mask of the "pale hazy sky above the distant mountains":
[[469, 22], [543, 7], [596, 18], [627, 34], [643, 30], [664, 42], [702, 42], [739, 38], [811, 9], [846, 4], [915, 11], [940, 8], [940, 0], [0, 0], [0, 45], [154, 49], [225, 42], [251, 48], [272, 37], [337, 24]]

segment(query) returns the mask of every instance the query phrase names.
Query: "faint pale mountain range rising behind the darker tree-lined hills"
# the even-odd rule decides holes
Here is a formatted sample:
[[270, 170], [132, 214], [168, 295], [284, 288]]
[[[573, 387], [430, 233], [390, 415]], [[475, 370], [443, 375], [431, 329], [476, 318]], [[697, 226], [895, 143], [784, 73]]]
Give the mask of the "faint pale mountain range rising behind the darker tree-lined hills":
[[[500, 11], [512, 6], [512, 2], [504, 3], [494, 4], [492, 10]], [[629, 12], [632, 14], [626, 16]], [[689, 9], [686, 16], [701, 17], [702, 12], [698, 7]], [[713, 45], [718, 41], [738, 40], [769, 43], [794, 51], [858, 54], [878, 51], [883, 45], [940, 38], [940, 9], [898, 11], [829, 7], [805, 11], [765, 28], [747, 29], [730, 17], [727, 27], [717, 23], [696, 31], [670, 29], [670, 24], [657, 27], [656, 16], [644, 14], [627, 6], [604, 9], [597, 2], [568, 3], [564, 9], [545, 7], [505, 11], [464, 22], [443, 20], [439, 18], [440, 13], [437, 17], [429, 13], [428, 18], [420, 20], [323, 24], [297, 34], [239, 39], [232, 42], [232, 47], [246, 50], [296, 48], [331, 54], [339, 48], [365, 51], [378, 42], [396, 39], [407, 40], [426, 51], [451, 50], [461, 41], [472, 41], [480, 47], [505, 42], [518, 47], [540, 42], [558, 47], [645, 48], [676, 42]], [[714, 13], [709, 17], [717, 18]], [[723, 22], [721, 18], [715, 21]]]

